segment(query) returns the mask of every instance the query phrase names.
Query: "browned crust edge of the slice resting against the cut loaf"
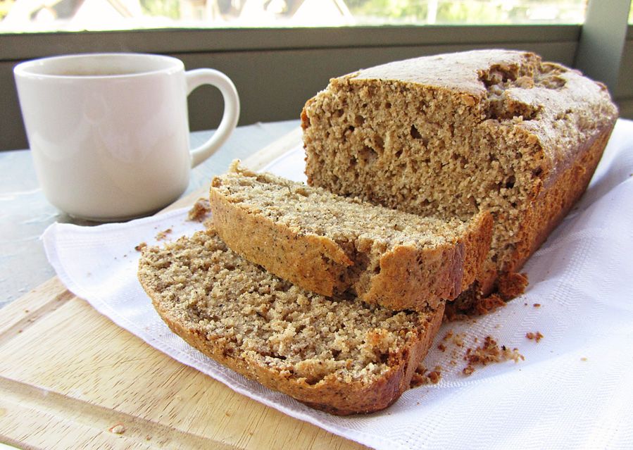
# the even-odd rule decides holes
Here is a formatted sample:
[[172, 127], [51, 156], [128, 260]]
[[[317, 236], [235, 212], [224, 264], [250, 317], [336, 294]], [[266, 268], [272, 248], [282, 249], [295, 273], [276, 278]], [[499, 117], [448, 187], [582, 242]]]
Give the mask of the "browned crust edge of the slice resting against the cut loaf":
[[[400, 245], [380, 257], [369, 280], [363, 271], [370, 251], [346, 251], [328, 237], [304, 234], [233, 204], [218, 189], [210, 191], [213, 227], [233, 251], [294, 285], [325, 296], [350, 287], [359, 299], [387, 308], [423, 311], [454, 299], [479, 273], [491, 242], [492, 218], [487, 212], [471, 220], [458, 242], [432, 249]], [[366, 262], [365, 262], [366, 264]], [[360, 269], [360, 270], [359, 270]]]

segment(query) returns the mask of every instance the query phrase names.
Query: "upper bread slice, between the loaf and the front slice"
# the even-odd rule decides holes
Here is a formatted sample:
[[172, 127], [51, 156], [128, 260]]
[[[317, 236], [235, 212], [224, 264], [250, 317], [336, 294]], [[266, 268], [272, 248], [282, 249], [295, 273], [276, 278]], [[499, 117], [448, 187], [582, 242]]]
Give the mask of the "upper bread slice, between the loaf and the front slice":
[[424, 311], [454, 299], [489, 251], [489, 213], [438, 219], [374, 206], [253, 173], [234, 162], [215, 177], [213, 227], [271, 273], [325, 296], [348, 290], [368, 304]]

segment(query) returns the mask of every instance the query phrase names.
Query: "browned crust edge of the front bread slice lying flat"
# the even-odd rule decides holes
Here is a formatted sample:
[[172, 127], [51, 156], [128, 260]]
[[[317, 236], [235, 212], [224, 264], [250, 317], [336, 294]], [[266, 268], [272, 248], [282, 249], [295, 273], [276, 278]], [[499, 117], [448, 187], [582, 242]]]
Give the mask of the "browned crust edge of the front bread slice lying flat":
[[415, 337], [410, 339], [402, 351], [399, 354], [389, 355], [391, 368], [375, 382], [346, 383], [334, 377], [325, 377], [320, 382], [311, 385], [305, 378], [293, 377], [290, 373], [280, 373], [258, 364], [257, 361], [228, 354], [226, 351], [228, 346], [223, 341], [223, 337], [209, 336], [199, 328], [184, 325], [169, 308], [165, 308], [160, 301], [155, 299], [151, 289], [145, 287], [142, 278], [141, 284], [170, 330], [182, 337], [189, 345], [265, 387], [292, 396], [312, 408], [335, 415], [372, 413], [387, 408], [399, 399], [401, 394], [408, 389], [415, 368], [430, 349], [444, 315], [444, 304], [440, 304], [433, 313], [429, 313], [427, 323], [417, 330]]

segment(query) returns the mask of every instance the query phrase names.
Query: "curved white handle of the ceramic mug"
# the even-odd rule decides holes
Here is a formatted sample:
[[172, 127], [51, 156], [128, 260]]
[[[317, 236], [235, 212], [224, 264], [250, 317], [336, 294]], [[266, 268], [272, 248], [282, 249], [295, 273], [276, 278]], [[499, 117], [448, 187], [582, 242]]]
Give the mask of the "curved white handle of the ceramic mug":
[[224, 113], [218, 130], [215, 130], [207, 142], [189, 151], [192, 155], [192, 168], [194, 168], [215, 153], [235, 130], [239, 119], [239, 96], [230, 78], [218, 70], [187, 70], [184, 73], [184, 80], [187, 82], [187, 95], [191, 94], [196, 87], [212, 85], [220, 89], [224, 99]]

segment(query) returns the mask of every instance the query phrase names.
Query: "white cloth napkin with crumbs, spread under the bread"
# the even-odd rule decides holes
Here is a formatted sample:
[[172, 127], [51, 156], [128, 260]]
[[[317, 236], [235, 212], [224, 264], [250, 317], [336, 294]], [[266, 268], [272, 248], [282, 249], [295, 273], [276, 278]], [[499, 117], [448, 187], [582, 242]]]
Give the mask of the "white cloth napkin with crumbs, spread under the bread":
[[[303, 180], [303, 153], [267, 170]], [[295, 418], [377, 449], [633, 448], [633, 122], [620, 120], [587, 193], [525, 265], [529, 287], [506, 307], [444, 324], [425, 364], [437, 385], [387, 410], [340, 418], [314, 411], [218, 365], [173, 335], [137, 282], [140, 242], [201, 228], [186, 211], [125, 224], [54, 224], [49, 261], [65, 285], [165, 354]], [[534, 306], [539, 304], [540, 306]], [[442, 337], [449, 331], [463, 338]], [[540, 342], [527, 339], [540, 332]], [[463, 355], [491, 336], [525, 361], [463, 375]], [[475, 342], [477, 339], [477, 342]], [[438, 344], [446, 346], [445, 351]]]

